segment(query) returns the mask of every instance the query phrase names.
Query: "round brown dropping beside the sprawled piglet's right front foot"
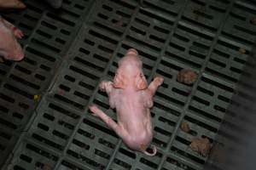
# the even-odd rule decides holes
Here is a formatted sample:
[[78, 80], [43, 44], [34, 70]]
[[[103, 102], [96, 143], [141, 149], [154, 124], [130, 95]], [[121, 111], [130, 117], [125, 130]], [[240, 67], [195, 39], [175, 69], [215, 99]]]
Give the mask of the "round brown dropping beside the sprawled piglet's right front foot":
[[193, 84], [197, 79], [195, 71], [189, 69], [183, 69], [177, 74], [177, 82], [183, 82], [185, 84]]

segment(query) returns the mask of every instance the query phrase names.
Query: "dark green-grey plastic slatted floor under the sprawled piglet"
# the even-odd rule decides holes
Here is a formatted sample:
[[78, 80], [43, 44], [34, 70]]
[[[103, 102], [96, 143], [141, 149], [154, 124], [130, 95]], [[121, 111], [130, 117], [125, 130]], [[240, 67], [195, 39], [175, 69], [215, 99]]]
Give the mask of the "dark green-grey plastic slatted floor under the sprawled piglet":
[[[25, 2], [26, 10], [4, 15], [25, 32], [21, 43], [28, 46], [23, 61], [0, 64], [0, 165], [203, 168], [207, 157], [189, 144], [195, 137], [215, 139], [256, 37], [250, 21], [255, 3], [145, 0], [142, 8], [135, 0], [64, 0], [60, 11], [50, 11], [37, 1]], [[113, 79], [118, 60], [131, 47], [142, 56], [148, 81], [156, 74], [165, 77], [152, 109], [154, 157], [127, 149], [88, 113], [95, 103], [115, 118], [98, 85]], [[182, 68], [199, 73], [193, 86], [176, 81]], [[179, 128], [182, 122], [189, 123], [189, 133]]]

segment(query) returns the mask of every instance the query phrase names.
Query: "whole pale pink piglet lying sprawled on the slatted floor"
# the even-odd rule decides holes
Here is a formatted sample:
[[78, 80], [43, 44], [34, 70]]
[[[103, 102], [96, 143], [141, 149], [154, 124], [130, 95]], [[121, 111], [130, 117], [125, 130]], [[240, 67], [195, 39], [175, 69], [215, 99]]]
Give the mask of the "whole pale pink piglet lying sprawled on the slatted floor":
[[164, 79], [155, 77], [148, 86], [142, 61], [137, 55], [136, 49], [129, 49], [119, 61], [113, 82], [103, 81], [100, 84], [100, 89], [108, 94], [110, 107], [116, 108], [118, 122], [114, 122], [96, 105], [91, 105], [90, 111], [112, 128], [132, 150], [154, 156], [157, 152], [154, 145], [151, 147], [153, 153], [146, 150], [153, 139], [150, 108], [153, 107], [154, 93]]

